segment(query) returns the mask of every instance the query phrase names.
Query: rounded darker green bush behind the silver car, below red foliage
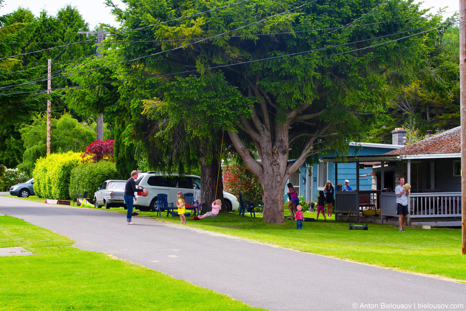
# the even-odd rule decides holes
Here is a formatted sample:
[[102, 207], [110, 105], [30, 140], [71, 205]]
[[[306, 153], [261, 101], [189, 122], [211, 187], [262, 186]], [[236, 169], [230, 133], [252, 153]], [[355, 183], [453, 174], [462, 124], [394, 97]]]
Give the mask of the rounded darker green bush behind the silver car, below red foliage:
[[97, 187], [102, 186], [107, 179], [120, 179], [115, 163], [99, 161], [97, 163], [82, 163], [71, 171], [69, 196], [89, 191], [87, 197], [93, 199]]

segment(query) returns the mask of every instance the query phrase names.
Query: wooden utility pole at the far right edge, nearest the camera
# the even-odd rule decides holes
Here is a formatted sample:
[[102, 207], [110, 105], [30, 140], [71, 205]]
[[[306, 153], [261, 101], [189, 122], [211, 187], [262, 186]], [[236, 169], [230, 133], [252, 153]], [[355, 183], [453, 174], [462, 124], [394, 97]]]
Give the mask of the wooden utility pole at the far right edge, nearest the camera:
[[466, 0], [460, 0], [461, 232], [466, 254]]

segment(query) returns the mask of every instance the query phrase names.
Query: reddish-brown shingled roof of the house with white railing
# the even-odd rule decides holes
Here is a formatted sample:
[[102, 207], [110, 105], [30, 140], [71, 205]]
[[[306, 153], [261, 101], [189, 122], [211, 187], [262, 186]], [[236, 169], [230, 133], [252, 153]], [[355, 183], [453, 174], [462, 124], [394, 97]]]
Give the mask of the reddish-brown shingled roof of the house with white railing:
[[392, 150], [385, 155], [432, 155], [461, 152], [461, 127], [419, 140], [406, 147]]

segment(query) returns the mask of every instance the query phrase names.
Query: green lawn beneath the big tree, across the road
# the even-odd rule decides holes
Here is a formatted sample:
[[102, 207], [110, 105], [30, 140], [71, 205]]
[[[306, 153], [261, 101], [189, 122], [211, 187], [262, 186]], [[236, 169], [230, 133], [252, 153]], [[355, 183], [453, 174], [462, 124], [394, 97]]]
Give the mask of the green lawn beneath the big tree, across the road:
[[[123, 208], [111, 210], [126, 212]], [[180, 222], [179, 217], [158, 218], [152, 212], [140, 214], [151, 215], [150, 218], [157, 220]], [[285, 215], [289, 212], [286, 211]], [[302, 252], [466, 282], [461, 229], [405, 227], [406, 232], [399, 232], [398, 227], [392, 225], [369, 224], [367, 231], [349, 230], [348, 223], [335, 222], [334, 218], [323, 222], [321, 215], [318, 222], [304, 222], [303, 229], [296, 230], [293, 221], [268, 225], [262, 221], [261, 214], [256, 216], [221, 213], [215, 219], [188, 220], [187, 225]], [[315, 218], [316, 213], [305, 212], [304, 216]], [[137, 217], [133, 221], [137, 222]]]

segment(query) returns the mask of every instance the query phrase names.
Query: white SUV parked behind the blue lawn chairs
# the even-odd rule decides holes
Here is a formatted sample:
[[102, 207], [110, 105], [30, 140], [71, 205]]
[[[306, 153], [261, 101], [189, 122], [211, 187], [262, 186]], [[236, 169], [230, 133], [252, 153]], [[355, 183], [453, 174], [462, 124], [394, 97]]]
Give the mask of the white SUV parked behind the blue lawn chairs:
[[[163, 172], [141, 172], [136, 179], [136, 186], [141, 186], [149, 191], [144, 197], [137, 195], [137, 201], [134, 207], [143, 210], [155, 210], [157, 203], [157, 194], [166, 194], [168, 203], [176, 203], [176, 194], [178, 191], [183, 193], [194, 193], [194, 200], [199, 200], [200, 177], [196, 175], [168, 174]], [[225, 205], [229, 211], [238, 210], [239, 202], [236, 197], [228, 192], [223, 191]]]

